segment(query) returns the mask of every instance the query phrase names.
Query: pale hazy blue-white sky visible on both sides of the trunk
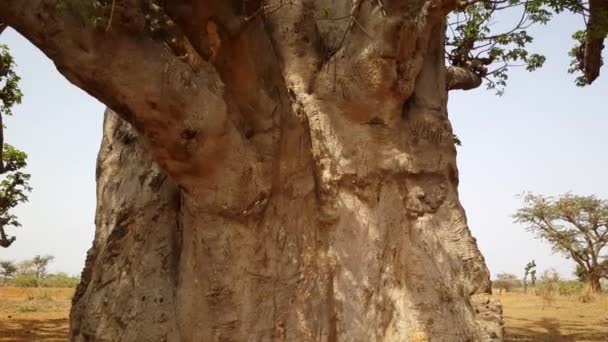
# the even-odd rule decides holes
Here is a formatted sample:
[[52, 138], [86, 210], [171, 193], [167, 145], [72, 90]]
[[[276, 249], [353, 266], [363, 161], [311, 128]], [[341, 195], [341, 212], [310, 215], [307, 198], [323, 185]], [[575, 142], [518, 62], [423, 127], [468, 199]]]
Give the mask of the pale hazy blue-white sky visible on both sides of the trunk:
[[[572, 263], [512, 223], [515, 195], [573, 191], [608, 198], [608, 67], [588, 88], [567, 74], [570, 35], [580, 21], [560, 17], [536, 30], [548, 57], [535, 73], [514, 70], [503, 97], [478, 89], [450, 95], [459, 148], [460, 193], [492, 274], [521, 274], [536, 259], [569, 276]], [[16, 58], [24, 103], [6, 120], [6, 141], [29, 153], [34, 191], [16, 210], [23, 228], [0, 259], [52, 254], [52, 270], [79, 273], [94, 232], [95, 158], [104, 106], [68, 83], [52, 63], [11, 30], [0, 36]]]

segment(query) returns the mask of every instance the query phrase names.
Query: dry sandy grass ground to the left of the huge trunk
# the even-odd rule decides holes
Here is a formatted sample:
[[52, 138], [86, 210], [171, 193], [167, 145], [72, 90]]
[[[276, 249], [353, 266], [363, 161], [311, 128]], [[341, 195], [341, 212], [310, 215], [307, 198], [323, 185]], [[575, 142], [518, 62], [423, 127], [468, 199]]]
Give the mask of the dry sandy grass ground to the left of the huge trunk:
[[74, 289], [0, 287], [0, 341], [67, 341]]

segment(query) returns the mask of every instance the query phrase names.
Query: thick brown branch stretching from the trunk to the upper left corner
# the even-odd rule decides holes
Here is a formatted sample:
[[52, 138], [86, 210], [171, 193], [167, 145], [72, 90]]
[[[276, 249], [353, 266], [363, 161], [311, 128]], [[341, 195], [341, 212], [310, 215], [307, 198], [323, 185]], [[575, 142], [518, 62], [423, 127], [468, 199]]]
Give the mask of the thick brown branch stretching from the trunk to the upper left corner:
[[175, 179], [200, 174], [210, 164], [209, 155], [225, 149], [240, 159], [249, 155], [228, 119], [214, 68], [197, 56], [176, 56], [169, 42], [148, 37], [135, 3], [117, 9], [107, 32], [59, 13], [55, 5], [54, 0], [4, 0], [0, 18], [51, 58], [68, 80], [142, 132]]

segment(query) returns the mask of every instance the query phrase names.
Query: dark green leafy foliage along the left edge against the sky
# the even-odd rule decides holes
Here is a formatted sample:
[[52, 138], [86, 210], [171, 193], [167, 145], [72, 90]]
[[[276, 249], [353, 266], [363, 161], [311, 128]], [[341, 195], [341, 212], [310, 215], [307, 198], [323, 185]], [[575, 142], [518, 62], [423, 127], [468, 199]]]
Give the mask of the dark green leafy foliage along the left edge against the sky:
[[[6, 26], [0, 23], [0, 33]], [[9, 247], [14, 236], [9, 236], [5, 229], [21, 224], [11, 209], [19, 203], [27, 202], [27, 193], [31, 191], [28, 184], [30, 175], [23, 172], [27, 165], [27, 154], [4, 143], [3, 116], [12, 115], [15, 104], [21, 103], [19, 76], [15, 73], [15, 63], [5, 45], [0, 45], [0, 247]]]

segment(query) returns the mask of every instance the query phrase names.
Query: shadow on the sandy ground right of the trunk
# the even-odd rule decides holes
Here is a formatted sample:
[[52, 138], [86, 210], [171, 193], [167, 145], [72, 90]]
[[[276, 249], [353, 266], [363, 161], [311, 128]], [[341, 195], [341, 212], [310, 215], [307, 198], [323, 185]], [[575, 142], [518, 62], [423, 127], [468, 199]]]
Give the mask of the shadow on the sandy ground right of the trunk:
[[[562, 332], [562, 329], [567, 332]], [[608, 340], [606, 332], [590, 331], [589, 327], [584, 325], [560, 322], [553, 318], [529, 321], [523, 327], [507, 327], [505, 335], [505, 342], [605, 342]]]

